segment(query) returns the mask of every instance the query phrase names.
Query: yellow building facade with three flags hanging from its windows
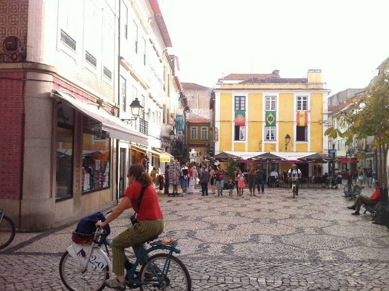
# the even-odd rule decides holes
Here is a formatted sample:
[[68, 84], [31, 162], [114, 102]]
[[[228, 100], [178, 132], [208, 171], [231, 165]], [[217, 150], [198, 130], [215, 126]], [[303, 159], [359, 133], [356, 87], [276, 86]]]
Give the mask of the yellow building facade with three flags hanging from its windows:
[[[325, 124], [329, 92], [323, 88], [321, 70], [308, 70], [306, 78], [281, 78], [275, 70], [219, 79], [215, 89], [215, 154], [287, 151], [326, 155], [323, 121]], [[286, 145], [287, 135], [290, 142]], [[288, 167], [290, 164], [281, 164], [277, 170]], [[304, 172], [310, 175], [312, 167], [304, 166]]]

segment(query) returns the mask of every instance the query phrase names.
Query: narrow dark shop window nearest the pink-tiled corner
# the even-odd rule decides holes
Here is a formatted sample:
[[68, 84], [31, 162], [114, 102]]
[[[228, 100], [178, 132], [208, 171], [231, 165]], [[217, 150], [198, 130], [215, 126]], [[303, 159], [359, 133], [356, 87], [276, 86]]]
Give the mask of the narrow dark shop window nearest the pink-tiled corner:
[[57, 109], [56, 200], [73, 195], [74, 109], [59, 103]]

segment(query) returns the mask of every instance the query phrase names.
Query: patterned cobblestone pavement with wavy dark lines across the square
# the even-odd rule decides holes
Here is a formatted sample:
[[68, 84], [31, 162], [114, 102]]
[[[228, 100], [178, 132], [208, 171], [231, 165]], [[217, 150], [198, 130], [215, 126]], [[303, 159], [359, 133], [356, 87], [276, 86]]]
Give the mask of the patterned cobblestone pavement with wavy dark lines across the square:
[[[251, 199], [248, 190], [245, 199], [224, 192], [160, 195], [161, 237], [180, 238], [194, 291], [389, 291], [389, 231], [368, 214], [352, 216], [341, 190], [301, 189], [297, 199], [279, 188]], [[131, 212], [111, 223], [111, 238]], [[65, 290], [58, 265], [74, 228], [18, 233], [0, 253], [0, 290]]]

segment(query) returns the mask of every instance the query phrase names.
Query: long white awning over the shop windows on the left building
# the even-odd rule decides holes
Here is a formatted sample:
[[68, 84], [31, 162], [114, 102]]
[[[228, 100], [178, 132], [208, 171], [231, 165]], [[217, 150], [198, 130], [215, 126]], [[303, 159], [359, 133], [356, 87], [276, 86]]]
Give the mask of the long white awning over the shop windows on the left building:
[[88, 115], [90, 118], [96, 120], [97, 122], [100, 122], [102, 124], [102, 130], [108, 132], [109, 137], [147, 145], [147, 136], [126, 127], [125, 124], [119, 120], [119, 118], [111, 115], [103, 108], [99, 109], [98, 104], [86, 104], [71, 97], [68, 94], [61, 95], [54, 90], [52, 91], [51, 96], [61, 101], [65, 101], [66, 104], [73, 109]]

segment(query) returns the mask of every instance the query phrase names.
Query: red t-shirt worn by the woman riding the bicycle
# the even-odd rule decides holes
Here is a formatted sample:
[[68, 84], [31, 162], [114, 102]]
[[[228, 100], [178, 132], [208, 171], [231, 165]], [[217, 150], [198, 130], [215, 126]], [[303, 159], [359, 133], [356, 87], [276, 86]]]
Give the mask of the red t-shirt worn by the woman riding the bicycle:
[[137, 220], [155, 220], [163, 218], [161, 208], [159, 207], [158, 196], [154, 187], [148, 186], [144, 190], [143, 198], [141, 201], [141, 211], [138, 211], [137, 204], [139, 196], [141, 195], [142, 184], [135, 182], [124, 191], [124, 196], [131, 199], [131, 206], [138, 214]]

